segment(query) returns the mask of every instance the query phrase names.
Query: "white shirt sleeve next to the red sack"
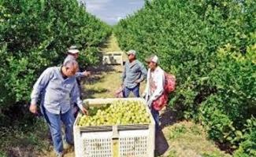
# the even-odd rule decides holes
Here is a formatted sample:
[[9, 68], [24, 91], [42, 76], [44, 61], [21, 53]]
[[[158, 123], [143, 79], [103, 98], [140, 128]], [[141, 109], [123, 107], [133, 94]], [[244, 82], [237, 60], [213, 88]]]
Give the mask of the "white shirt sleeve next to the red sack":
[[165, 81], [165, 75], [164, 73], [159, 73], [156, 75], [156, 86], [157, 88], [154, 90], [154, 93], [152, 93], [152, 96], [150, 97], [150, 100], [156, 100], [158, 97], [161, 96], [161, 94], [164, 92], [164, 81]]

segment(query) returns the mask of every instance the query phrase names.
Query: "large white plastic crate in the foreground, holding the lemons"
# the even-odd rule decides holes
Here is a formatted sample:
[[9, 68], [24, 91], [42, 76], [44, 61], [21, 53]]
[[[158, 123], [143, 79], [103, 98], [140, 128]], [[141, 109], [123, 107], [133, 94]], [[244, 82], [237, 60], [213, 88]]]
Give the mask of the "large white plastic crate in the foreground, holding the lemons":
[[[111, 104], [117, 100], [140, 101], [141, 98], [87, 99], [89, 106]], [[146, 107], [147, 108], [147, 107]], [[73, 126], [76, 157], [154, 157], [155, 123], [150, 113], [150, 124], [117, 126]]]

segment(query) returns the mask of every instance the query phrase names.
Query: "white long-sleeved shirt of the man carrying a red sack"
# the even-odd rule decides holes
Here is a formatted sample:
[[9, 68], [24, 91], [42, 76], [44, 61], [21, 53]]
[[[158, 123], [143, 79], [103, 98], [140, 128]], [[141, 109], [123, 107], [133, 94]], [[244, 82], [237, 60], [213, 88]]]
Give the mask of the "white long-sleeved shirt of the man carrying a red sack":
[[147, 71], [147, 84], [145, 88], [146, 100], [156, 100], [164, 92], [165, 85], [165, 71], [159, 66], [151, 71]]

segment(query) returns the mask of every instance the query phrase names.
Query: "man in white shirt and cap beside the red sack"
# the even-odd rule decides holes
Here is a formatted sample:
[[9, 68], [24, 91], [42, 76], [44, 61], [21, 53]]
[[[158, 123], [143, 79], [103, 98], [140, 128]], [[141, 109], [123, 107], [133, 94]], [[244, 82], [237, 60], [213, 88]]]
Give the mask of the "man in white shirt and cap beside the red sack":
[[147, 105], [149, 106], [151, 113], [154, 117], [154, 121], [156, 123], [156, 131], [159, 129], [159, 110], [158, 106], [154, 106], [154, 100], [157, 100], [158, 97], [164, 93], [164, 85], [165, 85], [165, 71], [163, 71], [158, 66], [158, 57], [151, 56], [147, 58], [147, 85], [146, 89], [143, 93], [147, 101]]

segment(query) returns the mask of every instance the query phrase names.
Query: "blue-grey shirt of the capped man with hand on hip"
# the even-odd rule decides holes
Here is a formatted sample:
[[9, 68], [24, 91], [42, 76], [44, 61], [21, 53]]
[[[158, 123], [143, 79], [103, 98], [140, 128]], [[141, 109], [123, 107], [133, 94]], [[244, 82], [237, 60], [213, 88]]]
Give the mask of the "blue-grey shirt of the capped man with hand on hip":
[[122, 75], [124, 86], [134, 88], [138, 85], [135, 81], [142, 82], [147, 77], [147, 69], [139, 60], [133, 60], [132, 63], [126, 61]]

